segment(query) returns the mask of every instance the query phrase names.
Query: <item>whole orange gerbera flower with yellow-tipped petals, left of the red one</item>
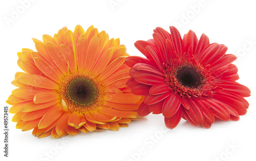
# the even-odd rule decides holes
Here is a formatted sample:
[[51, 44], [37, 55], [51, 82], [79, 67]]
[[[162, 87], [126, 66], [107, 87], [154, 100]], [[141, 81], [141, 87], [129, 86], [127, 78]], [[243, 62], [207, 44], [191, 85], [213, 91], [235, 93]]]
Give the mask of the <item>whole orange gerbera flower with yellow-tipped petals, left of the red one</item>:
[[119, 39], [94, 26], [84, 32], [77, 25], [53, 38], [33, 39], [36, 51], [18, 52], [17, 72], [7, 103], [16, 128], [44, 138], [60, 138], [82, 132], [127, 127], [138, 117], [141, 96], [133, 95], [125, 83], [130, 78], [124, 64], [129, 56]]

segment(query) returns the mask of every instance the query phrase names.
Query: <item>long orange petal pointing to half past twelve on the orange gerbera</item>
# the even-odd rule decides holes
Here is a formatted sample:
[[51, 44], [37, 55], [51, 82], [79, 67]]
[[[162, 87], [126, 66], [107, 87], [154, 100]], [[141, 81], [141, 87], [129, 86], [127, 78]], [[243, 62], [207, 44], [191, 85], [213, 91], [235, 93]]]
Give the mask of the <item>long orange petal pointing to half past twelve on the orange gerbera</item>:
[[[89, 41], [89, 38], [88, 38]], [[99, 38], [97, 36], [93, 36], [91, 41], [88, 45], [88, 50], [86, 53], [86, 63], [84, 64], [84, 70], [90, 71], [90, 69], [93, 67], [95, 60], [97, 58], [97, 49], [99, 46]]]

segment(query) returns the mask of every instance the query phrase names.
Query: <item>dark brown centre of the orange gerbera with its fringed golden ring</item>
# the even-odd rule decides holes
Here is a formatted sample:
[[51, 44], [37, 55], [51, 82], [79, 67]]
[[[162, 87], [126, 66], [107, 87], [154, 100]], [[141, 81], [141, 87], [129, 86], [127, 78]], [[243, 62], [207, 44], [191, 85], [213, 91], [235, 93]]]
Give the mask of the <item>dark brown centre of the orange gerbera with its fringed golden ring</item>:
[[104, 86], [89, 73], [77, 71], [62, 78], [58, 94], [59, 99], [65, 101], [69, 111], [82, 114], [94, 111], [102, 104]]

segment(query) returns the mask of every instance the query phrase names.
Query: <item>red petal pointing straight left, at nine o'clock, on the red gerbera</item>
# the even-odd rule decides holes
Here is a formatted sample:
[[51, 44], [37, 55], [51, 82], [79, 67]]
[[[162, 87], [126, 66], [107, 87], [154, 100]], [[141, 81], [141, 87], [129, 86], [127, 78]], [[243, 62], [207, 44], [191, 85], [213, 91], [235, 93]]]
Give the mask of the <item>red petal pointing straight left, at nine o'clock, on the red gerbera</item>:
[[164, 83], [164, 77], [148, 71], [138, 72], [134, 75], [134, 79], [137, 82], [145, 85], [156, 85], [159, 83]]

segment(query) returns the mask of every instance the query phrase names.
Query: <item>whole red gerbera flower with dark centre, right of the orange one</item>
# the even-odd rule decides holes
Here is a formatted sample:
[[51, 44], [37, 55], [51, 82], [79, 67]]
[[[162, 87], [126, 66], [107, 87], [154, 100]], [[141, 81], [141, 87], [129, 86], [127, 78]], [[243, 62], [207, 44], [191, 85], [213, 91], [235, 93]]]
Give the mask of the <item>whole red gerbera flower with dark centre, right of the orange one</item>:
[[156, 28], [154, 39], [139, 40], [136, 48], [147, 59], [131, 56], [127, 86], [144, 95], [139, 115], [163, 114], [167, 128], [175, 128], [181, 118], [193, 126], [210, 128], [215, 119], [238, 121], [249, 103], [250, 90], [237, 83], [237, 59], [226, 54], [223, 44], [209, 43], [206, 35], [198, 40], [193, 31], [184, 35], [170, 26], [170, 34]]

